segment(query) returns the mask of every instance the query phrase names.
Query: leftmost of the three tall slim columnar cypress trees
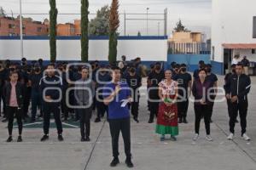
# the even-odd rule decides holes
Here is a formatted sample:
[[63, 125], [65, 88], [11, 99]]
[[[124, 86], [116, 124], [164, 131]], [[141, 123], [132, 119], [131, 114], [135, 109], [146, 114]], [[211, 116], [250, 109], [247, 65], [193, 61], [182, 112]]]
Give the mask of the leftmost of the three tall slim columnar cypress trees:
[[56, 25], [58, 9], [56, 8], [55, 0], [49, 0], [49, 48], [50, 48], [50, 60], [56, 60]]

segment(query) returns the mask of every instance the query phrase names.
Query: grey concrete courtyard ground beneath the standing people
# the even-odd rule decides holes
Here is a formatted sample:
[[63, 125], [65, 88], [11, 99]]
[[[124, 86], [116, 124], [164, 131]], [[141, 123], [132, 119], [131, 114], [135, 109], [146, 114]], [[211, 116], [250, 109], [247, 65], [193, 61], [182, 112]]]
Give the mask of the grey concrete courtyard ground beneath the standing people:
[[[252, 84], [256, 83], [256, 77]], [[224, 77], [218, 77], [223, 86]], [[145, 85], [145, 84], [144, 84]], [[148, 124], [146, 96], [140, 102], [140, 123], [131, 120], [131, 151], [134, 169], [139, 170], [255, 170], [256, 169], [256, 87], [252, 86], [247, 116], [247, 135], [250, 142], [240, 138], [240, 125], [236, 124], [236, 138], [228, 141], [228, 111], [225, 102], [216, 103], [213, 111], [212, 142], [205, 138], [204, 123], [201, 122], [201, 138], [194, 142], [194, 110], [189, 104], [189, 124], [180, 124], [177, 142], [160, 142], [154, 133], [154, 124]], [[78, 123], [65, 123], [64, 142], [58, 142], [55, 126], [50, 128], [49, 140], [40, 142], [42, 123], [25, 124], [23, 142], [7, 144], [7, 123], [0, 123], [0, 169], [1, 170], [107, 170], [127, 169], [122, 139], [119, 139], [118, 167], [109, 167], [112, 161], [111, 138], [108, 122], [95, 123], [91, 119], [90, 143], [80, 142]], [[239, 119], [238, 119], [239, 120]], [[120, 135], [121, 137], [121, 135]]]

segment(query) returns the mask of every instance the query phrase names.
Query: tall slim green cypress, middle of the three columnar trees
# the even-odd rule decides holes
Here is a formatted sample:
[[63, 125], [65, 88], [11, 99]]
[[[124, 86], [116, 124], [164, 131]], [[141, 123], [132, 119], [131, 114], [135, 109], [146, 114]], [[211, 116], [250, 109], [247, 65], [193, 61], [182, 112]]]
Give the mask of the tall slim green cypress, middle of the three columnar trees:
[[89, 37], [88, 37], [88, 11], [89, 1], [81, 0], [81, 60], [88, 61]]

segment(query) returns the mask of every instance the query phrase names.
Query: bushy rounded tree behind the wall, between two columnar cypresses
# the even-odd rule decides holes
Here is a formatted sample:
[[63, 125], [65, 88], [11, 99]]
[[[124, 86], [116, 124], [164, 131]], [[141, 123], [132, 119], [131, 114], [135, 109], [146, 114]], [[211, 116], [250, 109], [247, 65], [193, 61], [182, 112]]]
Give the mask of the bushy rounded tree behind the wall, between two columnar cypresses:
[[96, 18], [90, 20], [89, 35], [91, 36], [108, 36], [109, 33], [109, 7], [102, 7], [97, 11]]

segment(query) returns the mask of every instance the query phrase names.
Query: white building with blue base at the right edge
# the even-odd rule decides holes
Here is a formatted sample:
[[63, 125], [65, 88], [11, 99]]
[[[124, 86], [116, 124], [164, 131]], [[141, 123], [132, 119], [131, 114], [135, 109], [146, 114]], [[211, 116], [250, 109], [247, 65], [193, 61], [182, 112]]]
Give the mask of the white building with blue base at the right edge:
[[256, 0], [212, 0], [212, 65], [224, 74], [236, 54], [256, 62]]

